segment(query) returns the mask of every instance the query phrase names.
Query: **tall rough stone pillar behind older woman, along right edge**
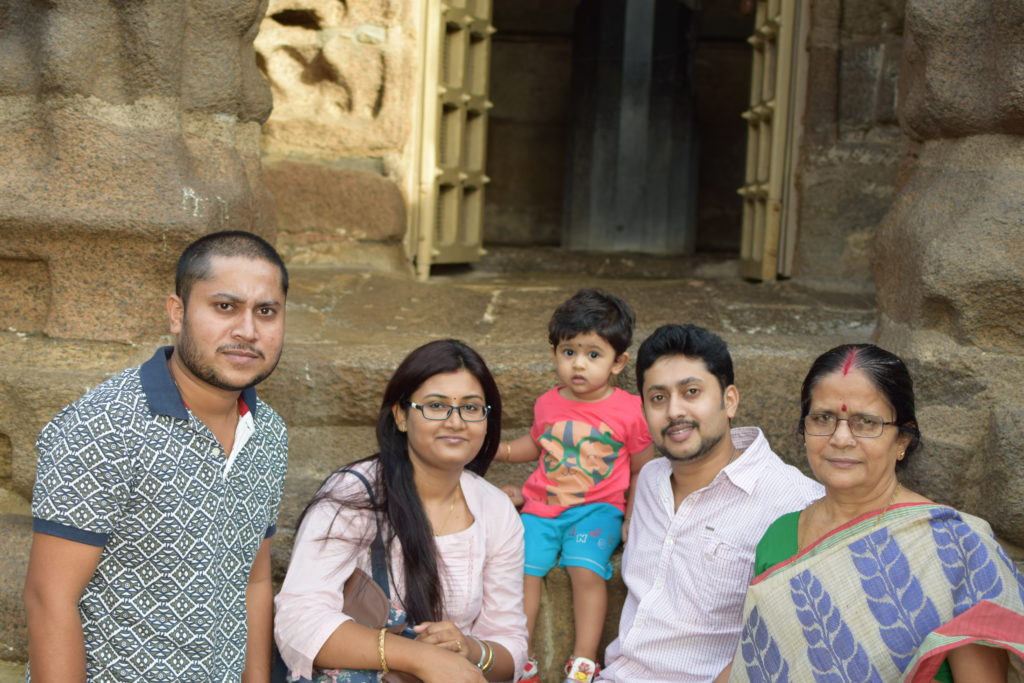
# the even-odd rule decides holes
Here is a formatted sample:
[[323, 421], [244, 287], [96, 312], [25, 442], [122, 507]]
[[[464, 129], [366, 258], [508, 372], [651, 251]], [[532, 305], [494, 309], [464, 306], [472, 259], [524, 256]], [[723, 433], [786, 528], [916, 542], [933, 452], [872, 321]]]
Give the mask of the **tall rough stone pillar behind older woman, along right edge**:
[[912, 138], [878, 233], [879, 339], [913, 358], [923, 493], [1024, 545], [1024, 8], [908, 0], [899, 117]]

